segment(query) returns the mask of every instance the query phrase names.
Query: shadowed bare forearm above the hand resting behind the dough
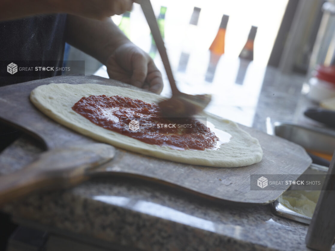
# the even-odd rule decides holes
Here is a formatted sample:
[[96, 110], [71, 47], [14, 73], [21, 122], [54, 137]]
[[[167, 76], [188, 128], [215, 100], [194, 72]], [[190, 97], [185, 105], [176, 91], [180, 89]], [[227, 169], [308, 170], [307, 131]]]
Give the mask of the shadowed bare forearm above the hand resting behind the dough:
[[129, 39], [111, 18], [103, 21], [68, 15], [66, 41], [106, 64], [108, 57]]

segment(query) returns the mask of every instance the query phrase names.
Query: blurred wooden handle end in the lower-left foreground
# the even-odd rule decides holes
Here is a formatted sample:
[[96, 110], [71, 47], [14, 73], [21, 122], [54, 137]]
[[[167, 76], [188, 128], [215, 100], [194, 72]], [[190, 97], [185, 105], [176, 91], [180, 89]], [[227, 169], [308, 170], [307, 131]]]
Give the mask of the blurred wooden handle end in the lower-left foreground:
[[89, 178], [89, 169], [114, 155], [114, 147], [101, 143], [47, 151], [22, 170], [0, 176], [0, 206], [34, 191], [79, 184]]

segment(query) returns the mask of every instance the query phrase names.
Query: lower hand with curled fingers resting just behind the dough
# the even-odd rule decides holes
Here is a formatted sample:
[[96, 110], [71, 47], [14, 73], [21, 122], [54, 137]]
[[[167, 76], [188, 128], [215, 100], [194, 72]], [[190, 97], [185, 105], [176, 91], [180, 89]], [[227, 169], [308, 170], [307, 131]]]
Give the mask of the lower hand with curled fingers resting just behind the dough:
[[162, 75], [150, 56], [133, 43], [119, 46], [108, 58], [110, 78], [159, 94], [163, 89]]

